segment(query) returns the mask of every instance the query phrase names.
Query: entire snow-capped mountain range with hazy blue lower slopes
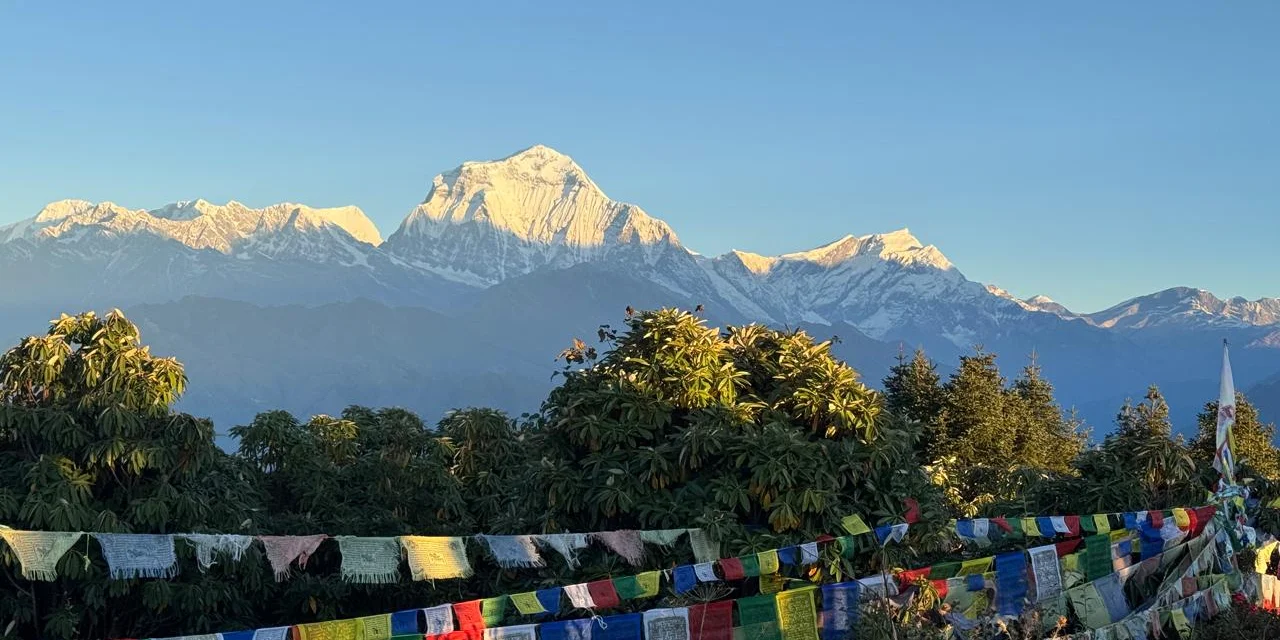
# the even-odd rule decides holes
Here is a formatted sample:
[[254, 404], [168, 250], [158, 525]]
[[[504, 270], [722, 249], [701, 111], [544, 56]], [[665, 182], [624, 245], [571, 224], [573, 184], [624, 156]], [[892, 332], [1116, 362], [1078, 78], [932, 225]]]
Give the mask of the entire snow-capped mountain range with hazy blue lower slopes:
[[[1006, 375], [1034, 353], [1098, 433], [1147, 384], [1189, 429], [1216, 396], [1222, 338], [1242, 389], [1280, 376], [1280, 300], [1174, 288], [1076, 314], [973, 282], [908, 229], [708, 257], [545, 146], [436, 175], [385, 239], [355, 206], [64, 200], [0, 227], [0, 343], [123, 307], [187, 365], [184, 408], [220, 430], [265, 408], [534, 410], [554, 353], [627, 306], [835, 335], [870, 384], [915, 347], [943, 372], [977, 344]], [[1280, 384], [1260, 389], [1275, 406]]]

